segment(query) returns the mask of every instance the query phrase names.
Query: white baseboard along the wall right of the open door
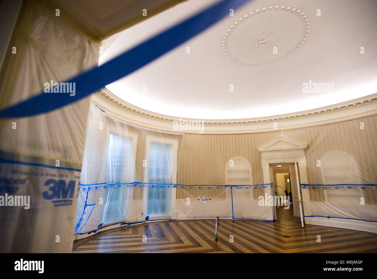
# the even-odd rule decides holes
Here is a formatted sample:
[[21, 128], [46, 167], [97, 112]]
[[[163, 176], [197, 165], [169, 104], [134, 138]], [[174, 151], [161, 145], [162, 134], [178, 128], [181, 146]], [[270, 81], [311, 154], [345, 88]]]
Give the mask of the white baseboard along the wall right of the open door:
[[368, 231], [377, 233], [377, 222], [368, 222], [352, 219], [326, 218], [326, 217], [305, 217], [305, 224], [320, 225], [335, 228], [348, 228], [350, 230]]

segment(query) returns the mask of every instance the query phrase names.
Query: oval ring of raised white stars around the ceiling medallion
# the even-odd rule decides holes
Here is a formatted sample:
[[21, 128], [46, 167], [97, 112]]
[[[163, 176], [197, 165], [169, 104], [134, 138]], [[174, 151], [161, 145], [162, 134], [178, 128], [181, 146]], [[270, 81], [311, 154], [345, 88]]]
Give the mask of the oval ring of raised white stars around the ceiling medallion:
[[[231, 32], [240, 23], [242, 23], [244, 20], [247, 20], [248, 18], [253, 17], [253, 15], [262, 14], [262, 13], [268, 12], [268, 11], [276, 11], [276, 10], [284, 10], [284, 11], [296, 14], [302, 20], [302, 22], [303, 22], [303, 24], [305, 26], [305, 31], [302, 34], [300, 42], [298, 44], [296, 44], [296, 46], [294, 48], [292, 48], [291, 51], [289, 51], [286, 54], [280, 56], [279, 58], [270, 60], [270, 61], [265, 62], [265, 63], [251, 63], [251, 64], [250, 63], [245, 63], [245, 62], [240, 61], [240, 60], [237, 60], [232, 55], [230, 55], [230, 53], [228, 51], [228, 48], [227, 48], [228, 38], [229, 38], [229, 35], [231, 34]], [[301, 48], [301, 46], [305, 43], [305, 41], [307, 40], [307, 38], [309, 37], [310, 27], [311, 27], [310, 26], [310, 19], [308, 18], [308, 15], [306, 15], [305, 12], [303, 12], [301, 9], [297, 9], [296, 7], [292, 8], [291, 6], [286, 6], [286, 5], [276, 5], [276, 6], [263, 7], [262, 9], [256, 9], [255, 11], [251, 11], [251, 12], [249, 12], [249, 14], [245, 14], [243, 17], [240, 17], [237, 21], [235, 21], [234, 24], [232, 24], [230, 26], [230, 28], [227, 30], [227, 32], [222, 37], [221, 49], [222, 49], [222, 52], [224, 53], [224, 55], [229, 60], [231, 60], [232, 62], [237, 63], [237, 64], [239, 64], [241, 66], [253, 66], [253, 67], [255, 67], [255, 66], [265, 66], [265, 65], [276, 63], [276, 62], [278, 62], [280, 60], [283, 60], [284, 58], [287, 58], [288, 56], [291, 56], [292, 54], [294, 54], [294, 52], [298, 51]]]

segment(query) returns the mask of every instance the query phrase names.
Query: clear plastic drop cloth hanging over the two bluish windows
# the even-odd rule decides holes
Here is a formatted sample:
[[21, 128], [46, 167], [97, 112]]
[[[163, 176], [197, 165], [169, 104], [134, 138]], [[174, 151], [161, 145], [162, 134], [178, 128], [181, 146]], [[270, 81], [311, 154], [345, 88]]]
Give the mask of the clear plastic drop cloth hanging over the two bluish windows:
[[182, 135], [116, 120], [92, 105], [75, 233], [172, 219]]

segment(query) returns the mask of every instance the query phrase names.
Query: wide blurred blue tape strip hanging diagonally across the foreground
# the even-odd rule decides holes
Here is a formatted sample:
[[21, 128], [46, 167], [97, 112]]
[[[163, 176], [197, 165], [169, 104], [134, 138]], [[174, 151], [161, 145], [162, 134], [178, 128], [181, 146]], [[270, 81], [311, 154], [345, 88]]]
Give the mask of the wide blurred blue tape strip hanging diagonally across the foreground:
[[161, 32], [135, 48], [95, 67], [66, 82], [75, 83], [75, 95], [44, 93], [21, 101], [0, 111], [0, 118], [28, 117], [58, 109], [76, 102], [120, 78], [140, 69], [161, 55], [193, 38], [209, 26], [229, 15], [229, 9], [236, 9], [249, 0], [224, 0], [202, 12], [182, 21], [178, 25]]

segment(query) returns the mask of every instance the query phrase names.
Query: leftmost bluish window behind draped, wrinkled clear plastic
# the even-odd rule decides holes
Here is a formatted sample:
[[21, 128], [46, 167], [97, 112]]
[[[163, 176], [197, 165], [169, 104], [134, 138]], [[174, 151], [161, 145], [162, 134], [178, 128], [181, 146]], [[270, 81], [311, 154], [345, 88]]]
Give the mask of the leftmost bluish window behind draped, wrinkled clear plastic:
[[[135, 157], [133, 146], [136, 137], [109, 135], [107, 150], [106, 182], [109, 184], [135, 181]], [[125, 185], [106, 185], [104, 198], [104, 224], [121, 222], [127, 205]]]

